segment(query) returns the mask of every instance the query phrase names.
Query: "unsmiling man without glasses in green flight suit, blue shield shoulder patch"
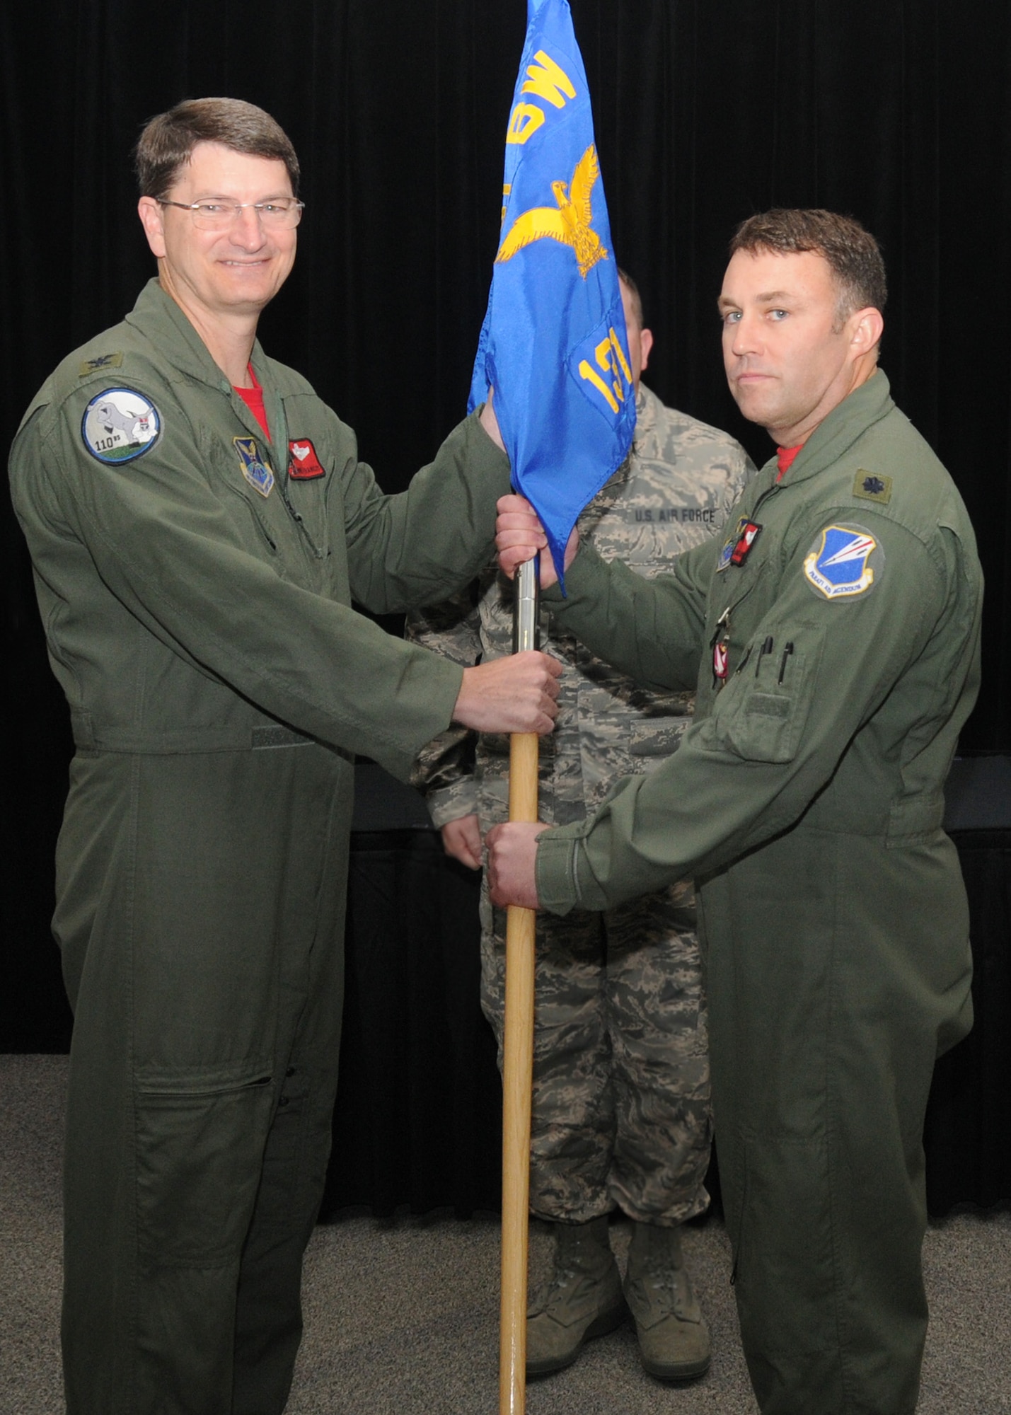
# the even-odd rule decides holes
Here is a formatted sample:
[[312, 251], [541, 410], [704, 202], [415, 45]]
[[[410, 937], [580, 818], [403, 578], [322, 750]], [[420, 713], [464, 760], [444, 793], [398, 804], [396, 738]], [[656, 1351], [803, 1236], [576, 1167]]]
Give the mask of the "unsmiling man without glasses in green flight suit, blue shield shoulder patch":
[[[498, 904], [561, 914], [699, 880], [716, 1143], [763, 1415], [912, 1415], [923, 1114], [935, 1057], [971, 1022], [942, 814], [978, 685], [981, 574], [961, 499], [878, 368], [884, 303], [878, 246], [851, 218], [741, 226], [724, 361], [777, 457], [722, 548], [643, 580], [573, 539], [569, 599], [548, 593], [640, 682], [698, 679], [695, 722], [586, 824], [489, 835]], [[521, 498], [500, 505], [510, 573], [544, 539]]]

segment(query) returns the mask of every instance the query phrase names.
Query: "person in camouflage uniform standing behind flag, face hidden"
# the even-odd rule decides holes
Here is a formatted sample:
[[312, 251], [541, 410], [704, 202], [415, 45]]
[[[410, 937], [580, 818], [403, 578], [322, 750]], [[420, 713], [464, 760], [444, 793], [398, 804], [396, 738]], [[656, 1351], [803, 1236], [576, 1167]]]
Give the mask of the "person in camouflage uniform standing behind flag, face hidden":
[[[641, 330], [637, 301], [623, 296], [634, 368], [637, 337], [646, 335], [649, 354], [651, 335]], [[583, 511], [579, 533], [605, 559], [622, 559], [651, 577], [722, 526], [750, 463], [725, 433], [666, 408], [643, 385], [636, 412], [633, 451]], [[498, 658], [513, 645], [513, 582], [491, 567], [470, 593], [413, 611], [408, 634], [459, 664]], [[691, 720], [694, 695], [637, 686], [573, 635], [549, 633], [547, 613], [541, 642], [565, 666], [555, 732], [541, 743], [539, 818], [565, 825], [592, 814], [622, 777], [649, 773], [670, 757]], [[449, 853], [477, 866], [476, 838], [464, 857], [446, 828], [476, 818], [483, 836], [508, 818], [508, 739], [446, 732], [422, 751], [415, 784], [426, 792]], [[506, 914], [493, 908], [487, 883], [481, 925], [481, 1005], [501, 1064]], [[675, 1230], [708, 1203], [702, 1182], [711, 1140], [691, 883], [603, 916], [542, 914], [537, 930], [531, 1210], [565, 1225], [602, 1220], [606, 1232], [603, 1215], [617, 1206], [643, 1225]], [[623, 1317], [620, 1289], [615, 1306]], [[697, 1326], [704, 1332], [701, 1313]], [[599, 1333], [581, 1339], [590, 1334]], [[531, 1320], [528, 1370], [556, 1370], [575, 1358], [579, 1344], [564, 1343], [566, 1360], [552, 1351], [538, 1365]], [[708, 1364], [708, 1340], [705, 1346]], [[677, 1378], [705, 1370], [682, 1364]]]

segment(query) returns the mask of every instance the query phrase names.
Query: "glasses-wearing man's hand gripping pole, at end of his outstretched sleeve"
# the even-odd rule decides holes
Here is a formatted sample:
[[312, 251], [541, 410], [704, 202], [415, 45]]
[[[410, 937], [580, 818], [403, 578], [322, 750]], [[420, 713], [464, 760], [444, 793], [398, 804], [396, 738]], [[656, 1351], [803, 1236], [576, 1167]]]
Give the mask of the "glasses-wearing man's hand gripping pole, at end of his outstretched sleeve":
[[562, 665], [527, 649], [463, 669], [453, 722], [474, 732], [535, 732], [544, 736], [558, 716]]

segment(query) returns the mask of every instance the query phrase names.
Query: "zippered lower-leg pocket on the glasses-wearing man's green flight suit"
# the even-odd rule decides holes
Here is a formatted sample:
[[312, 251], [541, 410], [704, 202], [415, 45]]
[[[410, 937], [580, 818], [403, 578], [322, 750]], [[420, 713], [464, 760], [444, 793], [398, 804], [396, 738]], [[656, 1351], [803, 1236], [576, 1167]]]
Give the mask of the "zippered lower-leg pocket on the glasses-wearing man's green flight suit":
[[235, 1261], [273, 1114], [268, 1064], [137, 1082], [137, 1245], [159, 1266]]

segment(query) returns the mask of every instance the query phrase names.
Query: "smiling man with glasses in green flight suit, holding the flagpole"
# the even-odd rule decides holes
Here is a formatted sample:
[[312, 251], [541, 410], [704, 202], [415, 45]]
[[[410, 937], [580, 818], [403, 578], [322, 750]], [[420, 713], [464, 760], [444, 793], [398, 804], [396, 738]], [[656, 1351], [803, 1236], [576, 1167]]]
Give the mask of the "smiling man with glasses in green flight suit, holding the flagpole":
[[559, 666], [462, 672], [353, 611], [473, 577], [508, 463], [474, 416], [385, 497], [263, 354], [302, 212], [276, 122], [181, 103], [137, 171], [159, 277], [57, 368], [11, 454], [76, 743], [67, 1402], [279, 1415], [330, 1148], [354, 753], [406, 777], [450, 720], [548, 732]]

